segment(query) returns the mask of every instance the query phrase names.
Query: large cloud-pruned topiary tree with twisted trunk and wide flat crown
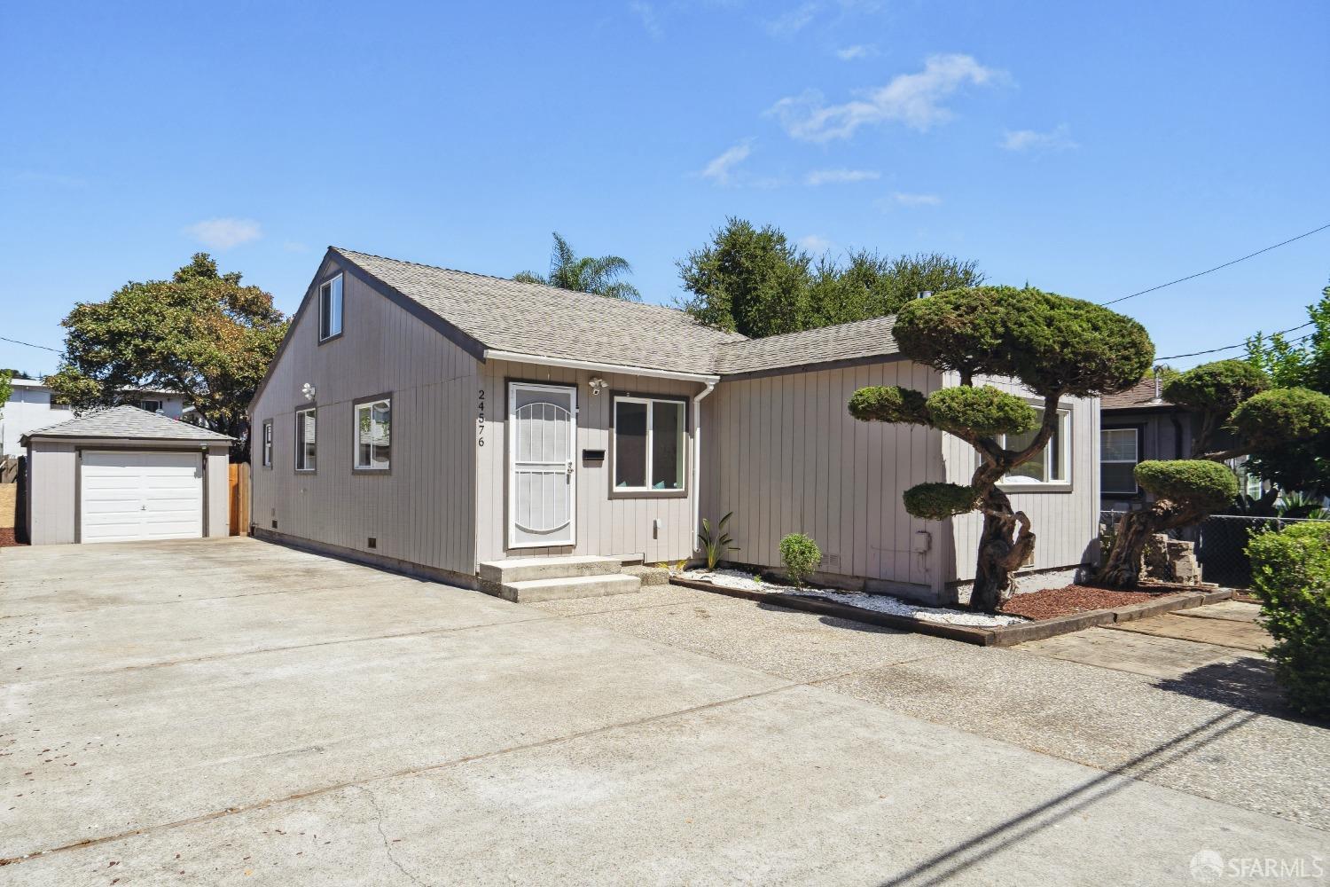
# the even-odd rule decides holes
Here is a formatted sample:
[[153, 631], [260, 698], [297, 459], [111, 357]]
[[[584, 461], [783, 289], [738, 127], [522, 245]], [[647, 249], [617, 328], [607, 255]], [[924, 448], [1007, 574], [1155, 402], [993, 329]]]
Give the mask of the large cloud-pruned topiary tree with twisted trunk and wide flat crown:
[[[968, 484], [911, 487], [904, 507], [924, 520], [983, 512], [970, 608], [994, 613], [1011, 594], [1012, 570], [1035, 548], [1029, 519], [1012, 509], [998, 481], [1044, 449], [1063, 398], [1130, 388], [1149, 368], [1154, 346], [1128, 317], [1028, 286], [950, 290], [910, 302], [896, 315], [895, 338], [911, 360], [955, 372], [959, 387], [927, 396], [898, 386], [861, 388], [850, 399], [850, 414], [863, 422], [939, 428], [974, 447], [979, 467]], [[1041, 400], [1043, 420], [1024, 398], [975, 386], [976, 376], [1020, 383]], [[1036, 428], [1027, 447], [1005, 448], [1003, 435]]]

